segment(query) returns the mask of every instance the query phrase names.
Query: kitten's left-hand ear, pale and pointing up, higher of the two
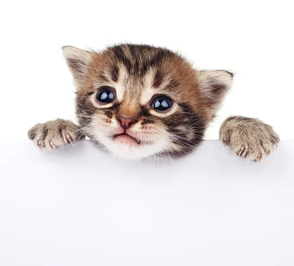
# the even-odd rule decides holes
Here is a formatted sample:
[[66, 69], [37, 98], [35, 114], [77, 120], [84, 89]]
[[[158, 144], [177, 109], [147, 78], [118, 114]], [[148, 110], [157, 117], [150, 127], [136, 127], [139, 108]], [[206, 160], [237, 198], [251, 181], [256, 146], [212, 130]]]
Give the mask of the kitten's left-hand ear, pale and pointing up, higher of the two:
[[73, 74], [74, 85], [79, 89], [86, 80], [88, 67], [92, 61], [93, 53], [73, 46], [63, 47], [62, 52], [67, 65]]

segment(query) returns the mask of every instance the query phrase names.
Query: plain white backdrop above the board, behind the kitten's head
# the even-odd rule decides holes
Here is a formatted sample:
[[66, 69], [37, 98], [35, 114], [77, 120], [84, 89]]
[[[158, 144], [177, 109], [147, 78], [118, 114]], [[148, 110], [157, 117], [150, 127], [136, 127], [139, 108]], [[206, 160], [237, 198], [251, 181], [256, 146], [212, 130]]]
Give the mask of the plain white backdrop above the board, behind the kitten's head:
[[201, 69], [236, 73], [207, 132], [228, 115], [261, 118], [294, 139], [293, 1], [3, 1], [0, 139], [27, 138], [37, 122], [74, 119], [61, 46], [146, 43], [180, 51]]

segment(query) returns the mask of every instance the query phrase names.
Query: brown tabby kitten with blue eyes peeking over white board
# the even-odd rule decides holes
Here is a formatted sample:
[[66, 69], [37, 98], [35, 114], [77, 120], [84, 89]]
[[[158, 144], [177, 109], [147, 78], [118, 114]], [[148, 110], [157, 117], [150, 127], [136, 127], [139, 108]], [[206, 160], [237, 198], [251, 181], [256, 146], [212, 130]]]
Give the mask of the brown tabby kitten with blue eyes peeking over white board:
[[[36, 124], [28, 138], [40, 148], [88, 137], [123, 158], [179, 158], [200, 145], [232, 85], [227, 71], [197, 71], [166, 48], [123, 44], [101, 52], [63, 47], [76, 87], [76, 116]], [[238, 156], [260, 161], [278, 144], [270, 125], [229, 117], [220, 139]]]

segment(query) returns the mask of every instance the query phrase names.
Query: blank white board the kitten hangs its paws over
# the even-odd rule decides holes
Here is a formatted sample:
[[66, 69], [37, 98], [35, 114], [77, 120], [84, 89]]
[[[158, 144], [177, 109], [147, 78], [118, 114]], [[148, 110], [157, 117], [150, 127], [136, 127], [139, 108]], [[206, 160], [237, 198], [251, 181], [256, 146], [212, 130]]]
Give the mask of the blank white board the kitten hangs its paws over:
[[294, 265], [294, 141], [260, 164], [220, 141], [173, 162], [0, 151], [1, 266]]

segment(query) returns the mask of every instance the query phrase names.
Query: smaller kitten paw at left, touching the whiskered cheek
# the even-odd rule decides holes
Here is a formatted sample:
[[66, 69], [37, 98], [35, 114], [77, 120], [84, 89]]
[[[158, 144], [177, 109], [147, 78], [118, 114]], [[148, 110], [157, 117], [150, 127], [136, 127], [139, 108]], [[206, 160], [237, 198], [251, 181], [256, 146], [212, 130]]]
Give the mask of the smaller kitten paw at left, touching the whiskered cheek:
[[55, 150], [62, 145], [72, 144], [79, 137], [79, 126], [72, 121], [57, 119], [46, 123], [38, 123], [27, 133], [30, 140], [34, 141], [40, 149]]

